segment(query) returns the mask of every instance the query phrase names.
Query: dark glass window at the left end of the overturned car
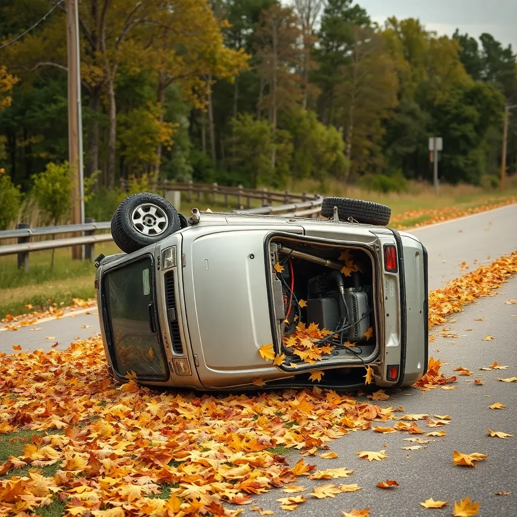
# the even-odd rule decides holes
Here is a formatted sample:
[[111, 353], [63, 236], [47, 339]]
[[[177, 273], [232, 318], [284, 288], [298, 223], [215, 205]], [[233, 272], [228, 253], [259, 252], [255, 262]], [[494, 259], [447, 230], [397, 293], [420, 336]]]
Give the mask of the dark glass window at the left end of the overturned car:
[[107, 323], [111, 323], [107, 332], [109, 348], [117, 374], [134, 372], [137, 377], [166, 378], [159, 332], [156, 332], [150, 256], [109, 271], [103, 277], [103, 285]]

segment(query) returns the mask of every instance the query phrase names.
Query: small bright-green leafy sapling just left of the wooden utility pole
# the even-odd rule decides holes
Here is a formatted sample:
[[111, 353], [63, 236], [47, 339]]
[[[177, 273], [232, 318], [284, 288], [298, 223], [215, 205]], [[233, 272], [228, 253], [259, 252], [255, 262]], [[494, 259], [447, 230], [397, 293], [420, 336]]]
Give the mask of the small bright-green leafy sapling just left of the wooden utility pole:
[[[70, 211], [70, 167], [68, 162], [56, 164], [50, 162], [40, 174], [32, 177], [33, 195], [38, 207], [47, 212], [52, 224]], [[52, 250], [51, 268], [54, 267], [54, 250]]]

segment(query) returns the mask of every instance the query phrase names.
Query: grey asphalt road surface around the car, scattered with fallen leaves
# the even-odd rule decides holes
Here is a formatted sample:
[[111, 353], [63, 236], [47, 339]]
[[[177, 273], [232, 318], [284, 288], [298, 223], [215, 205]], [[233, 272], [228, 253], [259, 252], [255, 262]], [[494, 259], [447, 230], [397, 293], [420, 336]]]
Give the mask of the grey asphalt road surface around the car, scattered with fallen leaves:
[[[478, 264], [488, 264], [494, 258], [517, 250], [517, 205], [483, 212], [455, 221], [422, 227], [412, 232], [427, 247], [430, 257], [430, 288], [434, 289], [446, 281], [462, 274], [460, 263], [465, 261], [470, 269]], [[476, 261], [476, 262], [475, 262]], [[517, 306], [506, 305], [505, 300], [517, 299], [517, 278], [510, 280], [493, 297], [483, 298], [467, 306], [462, 313], [449, 318], [451, 332], [457, 339], [439, 335], [430, 343], [430, 355], [449, 362], [443, 367], [446, 375], [452, 375], [453, 368], [463, 366], [472, 370], [472, 376], [459, 376], [458, 388], [450, 391], [435, 389], [422, 392], [407, 388], [390, 392], [391, 399], [381, 402], [382, 406], [403, 405], [406, 413], [451, 415], [451, 423], [444, 428], [427, 428], [425, 420], [419, 425], [426, 432], [446, 429], [447, 435], [431, 438], [423, 449], [401, 450], [400, 447], [415, 445], [403, 438], [410, 436], [396, 433], [382, 435], [373, 431], [350, 433], [329, 444], [339, 454], [338, 459], [323, 460], [309, 457], [306, 461], [316, 463], [318, 468], [347, 467], [355, 473], [346, 479], [310, 481], [299, 478], [297, 484], [312, 486], [330, 482], [358, 483], [363, 487], [355, 493], [338, 494], [336, 498], [314, 499], [297, 510], [298, 517], [309, 515], [340, 516], [341, 510], [371, 508], [372, 517], [417, 515], [450, 515], [453, 501], [470, 496], [481, 502], [479, 515], [490, 517], [513, 517], [517, 515], [517, 383], [497, 381], [497, 377], [517, 376]], [[20, 344], [23, 350], [48, 349], [56, 341], [57, 348], [65, 348], [76, 338], [86, 338], [99, 331], [96, 309], [90, 314], [80, 313], [76, 317], [63, 317], [37, 323], [18, 331], [0, 331], [0, 352], [11, 352], [12, 345]], [[483, 317], [483, 322], [475, 318]], [[87, 327], [83, 327], [87, 326]], [[472, 330], [465, 330], [472, 329]], [[482, 338], [490, 335], [492, 341]], [[45, 339], [52, 337], [52, 339]], [[506, 370], [480, 371], [493, 361], [508, 365]], [[482, 386], [474, 384], [481, 379]], [[364, 399], [367, 400], [367, 399]], [[488, 406], [501, 402], [507, 407], [493, 410]], [[486, 429], [504, 431], [514, 438], [500, 439], [487, 436]], [[360, 460], [359, 450], [381, 450], [386, 448], [389, 458], [380, 462]], [[452, 464], [452, 451], [464, 453], [481, 452], [489, 458], [476, 468], [459, 467]], [[297, 453], [288, 457], [290, 463], [297, 461]], [[386, 479], [397, 480], [399, 487], [382, 490], [375, 485]], [[498, 496], [495, 492], [511, 492]], [[282, 512], [276, 499], [284, 497], [275, 490], [255, 497], [255, 503], [264, 509]], [[298, 495], [298, 494], [293, 494]], [[444, 509], [424, 509], [420, 502], [433, 497], [450, 501]], [[249, 508], [249, 507], [248, 507]], [[247, 513], [248, 510], [246, 509]]]

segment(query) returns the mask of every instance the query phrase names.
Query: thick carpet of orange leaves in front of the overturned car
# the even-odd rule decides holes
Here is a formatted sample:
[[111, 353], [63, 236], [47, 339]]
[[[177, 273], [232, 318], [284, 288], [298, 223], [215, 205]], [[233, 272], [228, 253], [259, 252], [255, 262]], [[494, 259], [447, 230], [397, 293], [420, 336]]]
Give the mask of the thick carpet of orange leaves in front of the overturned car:
[[[9, 393], [0, 432], [49, 431], [0, 466], [10, 476], [0, 480], [0, 514], [32, 512], [58, 497], [74, 517], [236, 515], [225, 501], [246, 505], [314, 472], [304, 459], [290, 466], [268, 449], [324, 452], [350, 430], [394, 418], [391, 408], [317, 387], [197, 397], [120, 385], [105, 370], [100, 338], [61, 352], [4, 355], [0, 379]], [[44, 476], [50, 465], [55, 474]], [[26, 466], [28, 475], [17, 476]], [[313, 475], [325, 484], [351, 474], [336, 467]], [[153, 497], [164, 483], [170, 498]]]

